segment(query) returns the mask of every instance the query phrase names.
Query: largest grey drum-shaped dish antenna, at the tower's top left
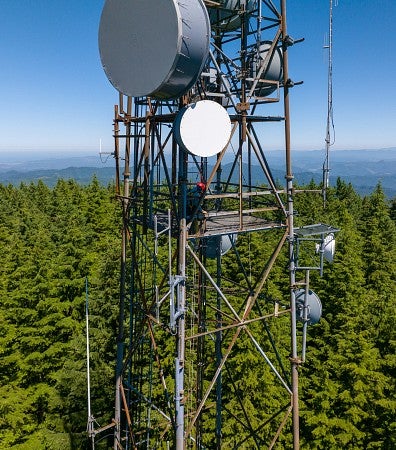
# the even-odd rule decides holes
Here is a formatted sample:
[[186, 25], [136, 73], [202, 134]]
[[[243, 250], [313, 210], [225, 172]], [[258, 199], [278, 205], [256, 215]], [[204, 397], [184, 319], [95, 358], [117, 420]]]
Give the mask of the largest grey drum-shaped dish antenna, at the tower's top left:
[[107, 78], [131, 97], [181, 97], [202, 72], [209, 39], [202, 0], [106, 0], [99, 25]]

